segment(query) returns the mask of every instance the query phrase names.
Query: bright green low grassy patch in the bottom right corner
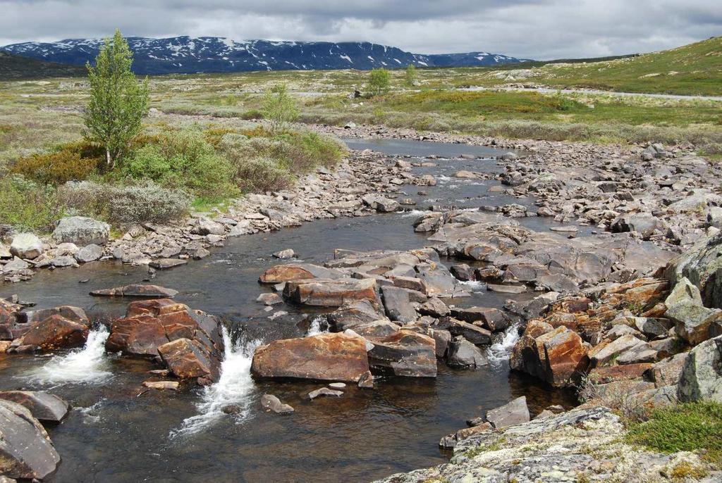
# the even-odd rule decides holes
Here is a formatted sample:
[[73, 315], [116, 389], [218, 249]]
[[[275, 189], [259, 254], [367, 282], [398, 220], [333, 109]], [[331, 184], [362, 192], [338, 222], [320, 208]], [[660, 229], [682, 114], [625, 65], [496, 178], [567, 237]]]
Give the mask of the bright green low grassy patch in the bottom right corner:
[[648, 421], [630, 425], [627, 442], [663, 453], [705, 450], [703, 458], [722, 468], [722, 404], [695, 402], [655, 409]]

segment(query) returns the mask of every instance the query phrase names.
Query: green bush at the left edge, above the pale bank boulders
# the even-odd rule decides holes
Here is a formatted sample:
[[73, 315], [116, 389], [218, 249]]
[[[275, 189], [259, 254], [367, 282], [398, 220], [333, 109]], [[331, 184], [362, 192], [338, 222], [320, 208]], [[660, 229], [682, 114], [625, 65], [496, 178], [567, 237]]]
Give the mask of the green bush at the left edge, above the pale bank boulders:
[[51, 231], [65, 207], [51, 186], [14, 174], [0, 180], [0, 223], [21, 230]]

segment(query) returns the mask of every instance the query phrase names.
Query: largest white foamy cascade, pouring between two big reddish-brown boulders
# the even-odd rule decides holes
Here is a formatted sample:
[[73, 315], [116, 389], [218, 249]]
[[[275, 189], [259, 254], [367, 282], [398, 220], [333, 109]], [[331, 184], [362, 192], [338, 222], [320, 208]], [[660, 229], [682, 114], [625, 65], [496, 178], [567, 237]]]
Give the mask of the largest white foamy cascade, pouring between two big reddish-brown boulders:
[[221, 409], [230, 404], [240, 408], [240, 412], [235, 415], [238, 420], [248, 417], [253, 391], [251, 360], [253, 350], [261, 345], [261, 341], [239, 342], [234, 345], [224, 327], [223, 344], [225, 353], [218, 381], [204, 387], [201, 401], [196, 404], [199, 414], [183, 420], [181, 427], [170, 432], [170, 438], [199, 433], [204, 427], [225, 416]]

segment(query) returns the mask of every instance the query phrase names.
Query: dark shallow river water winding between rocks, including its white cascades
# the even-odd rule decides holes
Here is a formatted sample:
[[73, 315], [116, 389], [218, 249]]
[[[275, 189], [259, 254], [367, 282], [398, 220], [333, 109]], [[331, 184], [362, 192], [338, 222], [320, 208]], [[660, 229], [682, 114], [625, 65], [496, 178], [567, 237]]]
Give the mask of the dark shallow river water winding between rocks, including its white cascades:
[[[437, 186], [402, 187], [401, 197], [417, 200], [417, 210], [430, 205], [534, 203], [488, 192], [495, 181], [453, 178], [459, 169], [500, 169], [492, 159], [458, 156], [495, 156], [500, 151], [421, 141], [347, 142], [352, 149], [389, 155], [440, 156], [425, 160], [436, 167], [414, 168], [417, 174], [437, 177]], [[273, 312], [255, 301], [258, 293], [268, 290], [258, 285], [258, 275], [278, 262], [271, 253], [292, 248], [302, 260], [321, 263], [336, 248], [422, 247], [425, 236], [414, 234], [412, 228], [418, 214], [322, 220], [230, 238], [202, 261], [158, 272], [152, 283], [177, 289], [178, 301], [228, 322], [231, 334], [222, 376], [209, 388], [143, 391], [142, 381], [155, 366], [103, 353], [107, 333], [101, 329], [91, 333], [82, 351], [51, 357], [0, 355], [0, 389], [46, 389], [71, 402], [66, 420], [49, 428], [63, 458], [53, 482], [366, 482], [445, 462], [439, 438], [464, 427], [469, 417], [516, 396], [526, 395], [533, 413], [549, 404], [571, 404], [571, 394], [510, 373], [505, 353], [513, 334], [490, 349], [492, 363], [486, 368], [461, 371], [440, 363], [435, 379], [386, 378], [373, 391], [351, 387], [338, 399], [305, 398], [319, 384], [253, 381], [253, 347], [309, 331], [308, 324], [298, 324], [305, 314], [293, 307], [276, 306], [274, 311], [290, 314], [269, 319]], [[554, 224], [544, 218], [524, 218], [521, 223], [539, 230]], [[77, 269], [43, 270], [29, 282], [0, 286], [0, 296], [17, 293], [39, 307], [81, 306], [97, 318], [107, 318], [121, 314], [128, 301], [92, 298], [88, 292], [140, 283], [147, 276], [144, 267], [96, 262]], [[79, 283], [85, 279], [90, 280]], [[506, 298], [510, 296], [477, 291], [458, 303], [499, 307]], [[262, 411], [259, 399], [266, 392], [291, 404], [295, 413]], [[240, 406], [240, 414], [220, 412], [230, 403]]]

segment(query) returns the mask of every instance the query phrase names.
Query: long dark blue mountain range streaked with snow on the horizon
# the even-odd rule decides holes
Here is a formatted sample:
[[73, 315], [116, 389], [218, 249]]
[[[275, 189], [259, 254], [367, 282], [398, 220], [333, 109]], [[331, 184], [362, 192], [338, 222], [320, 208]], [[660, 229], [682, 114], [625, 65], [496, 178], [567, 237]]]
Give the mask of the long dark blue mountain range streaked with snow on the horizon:
[[[235, 41], [224, 37], [170, 37], [164, 39], [129, 37], [138, 74], [192, 74], [196, 72], [237, 72], [313, 70], [375, 67], [492, 66], [521, 59], [500, 54], [473, 52], [420, 55], [374, 43]], [[26, 42], [6, 45], [17, 56], [43, 61], [84, 65], [97, 56], [103, 40], [68, 39], [52, 43]]]

